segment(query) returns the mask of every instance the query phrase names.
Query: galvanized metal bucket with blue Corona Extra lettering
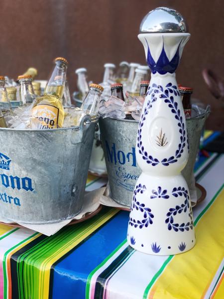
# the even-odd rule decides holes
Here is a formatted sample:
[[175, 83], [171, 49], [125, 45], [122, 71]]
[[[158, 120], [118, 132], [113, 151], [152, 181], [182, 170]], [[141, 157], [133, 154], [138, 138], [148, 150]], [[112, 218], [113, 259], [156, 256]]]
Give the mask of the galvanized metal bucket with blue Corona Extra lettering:
[[0, 128], [0, 218], [44, 224], [83, 206], [98, 118], [51, 130]]

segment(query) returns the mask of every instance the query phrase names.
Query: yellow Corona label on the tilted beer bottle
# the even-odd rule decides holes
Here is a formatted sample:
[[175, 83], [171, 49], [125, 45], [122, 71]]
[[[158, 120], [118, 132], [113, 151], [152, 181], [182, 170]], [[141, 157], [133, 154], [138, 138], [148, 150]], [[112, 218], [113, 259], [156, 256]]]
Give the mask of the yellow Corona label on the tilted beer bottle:
[[37, 105], [32, 109], [32, 115], [41, 121], [41, 129], [55, 129], [58, 125], [59, 109], [51, 105]]

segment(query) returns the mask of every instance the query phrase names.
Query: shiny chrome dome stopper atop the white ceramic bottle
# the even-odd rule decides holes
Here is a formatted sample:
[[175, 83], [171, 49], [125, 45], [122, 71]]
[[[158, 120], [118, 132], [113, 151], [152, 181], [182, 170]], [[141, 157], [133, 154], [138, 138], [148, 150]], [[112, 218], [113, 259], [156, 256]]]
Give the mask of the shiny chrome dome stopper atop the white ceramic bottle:
[[183, 16], [175, 9], [157, 7], [149, 11], [141, 21], [139, 33], [188, 32]]

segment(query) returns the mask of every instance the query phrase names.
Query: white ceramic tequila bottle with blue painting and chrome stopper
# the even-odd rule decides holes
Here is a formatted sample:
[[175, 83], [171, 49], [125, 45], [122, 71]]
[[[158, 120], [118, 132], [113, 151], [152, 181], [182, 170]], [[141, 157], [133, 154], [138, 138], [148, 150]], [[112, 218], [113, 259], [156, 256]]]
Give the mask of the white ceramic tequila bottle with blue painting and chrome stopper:
[[175, 77], [190, 34], [176, 10], [158, 7], [143, 18], [138, 38], [151, 81], [137, 134], [142, 173], [133, 192], [127, 240], [148, 254], [173, 255], [195, 245], [189, 190], [181, 175], [189, 154], [187, 128]]

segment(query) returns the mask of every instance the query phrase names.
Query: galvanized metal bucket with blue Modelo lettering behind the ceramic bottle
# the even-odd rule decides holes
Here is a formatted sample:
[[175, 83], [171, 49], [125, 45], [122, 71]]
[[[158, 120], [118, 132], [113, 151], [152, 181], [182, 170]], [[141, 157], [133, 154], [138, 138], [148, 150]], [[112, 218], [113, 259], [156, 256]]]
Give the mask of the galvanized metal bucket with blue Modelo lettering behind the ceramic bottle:
[[[199, 149], [200, 136], [210, 111], [199, 108], [197, 117], [187, 120], [189, 160], [182, 171], [188, 186]], [[113, 200], [130, 207], [132, 192], [141, 173], [135, 158], [138, 121], [100, 118], [99, 120], [110, 190]]]

